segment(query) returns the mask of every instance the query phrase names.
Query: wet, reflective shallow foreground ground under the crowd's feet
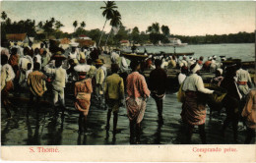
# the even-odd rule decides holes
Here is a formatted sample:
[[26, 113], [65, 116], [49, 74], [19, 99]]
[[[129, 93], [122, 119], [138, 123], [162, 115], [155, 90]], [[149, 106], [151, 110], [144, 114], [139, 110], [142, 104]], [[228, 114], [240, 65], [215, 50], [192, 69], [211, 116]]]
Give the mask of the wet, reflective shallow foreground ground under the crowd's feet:
[[[5, 110], [1, 112], [2, 145], [99, 145], [129, 143], [129, 120], [126, 108], [121, 107], [118, 116], [116, 135], [112, 133], [112, 119], [110, 130], [105, 131], [107, 110], [98, 108], [95, 100], [92, 101], [88, 117], [88, 131], [86, 134], [78, 134], [79, 113], [75, 110], [73, 101], [66, 97], [67, 110], [62, 114], [53, 115], [51, 97], [47, 95], [37, 106], [33, 106], [27, 116], [29, 98], [22, 94], [21, 97], [12, 97], [12, 101], [19, 107], [17, 113], [13, 113], [13, 119], [8, 120]], [[37, 110], [37, 114], [36, 114]], [[174, 93], [166, 94], [163, 103], [163, 125], [158, 123], [158, 111], [153, 98], [147, 103], [147, 110], [142, 122], [142, 144], [182, 144], [186, 128], [180, 118], [181, 103], [177, 102]], [[218, 115], [213, 112], [213, 118], [209, 118], [209, 109], [206, 121], [207, 142], [209, 144], [231, 144], [232, 131], [229, 127], [225, 137], [221, 136], [221, 128], [224, 121], [224, 111]], [[239, 123], [238, 143], [243, 143], [246, 131]], [[197, 128], [192, 136], [193, 144], [201, 144]]]

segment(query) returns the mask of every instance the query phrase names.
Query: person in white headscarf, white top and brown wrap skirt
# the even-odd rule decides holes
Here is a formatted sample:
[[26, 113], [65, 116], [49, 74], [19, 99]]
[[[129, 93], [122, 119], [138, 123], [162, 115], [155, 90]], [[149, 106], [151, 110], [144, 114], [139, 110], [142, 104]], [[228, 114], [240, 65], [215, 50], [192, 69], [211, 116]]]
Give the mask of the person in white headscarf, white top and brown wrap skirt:
[[[206, 143], [205, 122], [206, 122], [206, 103], [200, 93], [213, 94], [214, 90], [205, 88], [200, 74], [200, 66], [193, 64], [190, 67], [190, 75], [183, 82], [182, 90], [185, 91], [185, 101], [182, 105], [181, 117], [188, 125], [187, 143], [190, 143], [194, 126], [199, 127], [199, 134], [202, 143]], [[217, 92], [218, 93], [218, 92]]]

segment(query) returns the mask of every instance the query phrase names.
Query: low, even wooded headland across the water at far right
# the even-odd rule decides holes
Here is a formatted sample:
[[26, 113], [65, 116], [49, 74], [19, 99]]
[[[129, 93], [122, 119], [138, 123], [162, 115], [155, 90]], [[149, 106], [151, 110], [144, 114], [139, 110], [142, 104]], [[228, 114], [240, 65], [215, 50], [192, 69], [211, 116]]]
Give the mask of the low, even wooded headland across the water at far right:
[[206, 43], [254, 43], [254, 32], [238, 32], [223, 35], [205, 35], [205, 36], [184, 36], [175, 35], [175, 37], [189, 44], [206, 44]]

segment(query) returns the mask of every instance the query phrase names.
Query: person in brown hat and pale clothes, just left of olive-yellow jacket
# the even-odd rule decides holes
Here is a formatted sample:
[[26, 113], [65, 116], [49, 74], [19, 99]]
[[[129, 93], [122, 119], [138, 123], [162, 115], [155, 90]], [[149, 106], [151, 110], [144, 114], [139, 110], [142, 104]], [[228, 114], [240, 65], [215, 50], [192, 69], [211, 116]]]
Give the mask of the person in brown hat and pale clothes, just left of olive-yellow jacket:
[[[103, 65], [102, 60], [96, 59], [96, 96], [101, 105], [102, 95], [103, 95], [103, 81], [105, 79], [104, 70], [101, 68]], [[101, 107], [101, 106], [100, 106]]]

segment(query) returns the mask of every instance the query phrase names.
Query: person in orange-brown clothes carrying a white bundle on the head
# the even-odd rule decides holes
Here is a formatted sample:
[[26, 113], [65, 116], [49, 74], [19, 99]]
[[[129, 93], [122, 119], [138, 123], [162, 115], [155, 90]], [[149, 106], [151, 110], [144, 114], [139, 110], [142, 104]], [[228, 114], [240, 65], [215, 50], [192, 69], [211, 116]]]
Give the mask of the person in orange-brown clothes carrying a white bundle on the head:
[[79, 81], [75, 83], [75, 108], [80, 111], [79, 116], [79, 133], [87, 129], [87, 116], [91, 105], [91, 94], [93, 92], [92, 79], [87, 76], [90, 70], [89, 65], [76, 66]]

